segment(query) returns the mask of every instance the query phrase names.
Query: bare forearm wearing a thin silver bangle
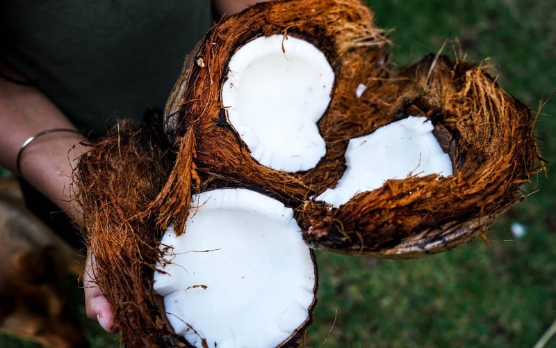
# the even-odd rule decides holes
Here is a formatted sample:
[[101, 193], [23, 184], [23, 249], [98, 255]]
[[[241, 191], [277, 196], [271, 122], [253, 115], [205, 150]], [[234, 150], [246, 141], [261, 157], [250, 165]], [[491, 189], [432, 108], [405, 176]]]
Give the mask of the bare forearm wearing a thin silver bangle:
[[[21, 79], [0, 66], [3, 74]], [[40, 90], [0, 78], [0, 165], [16, 173], [17, 152], [30, 136], [45, 129], [74, 129], [70, 120]], [[60, 209], [79, 219], [70, 200], [71, 174], [76, 159], [85, 151], [79, 134], [58, 132], [29, 144], [21, 157], [25, 180]]]

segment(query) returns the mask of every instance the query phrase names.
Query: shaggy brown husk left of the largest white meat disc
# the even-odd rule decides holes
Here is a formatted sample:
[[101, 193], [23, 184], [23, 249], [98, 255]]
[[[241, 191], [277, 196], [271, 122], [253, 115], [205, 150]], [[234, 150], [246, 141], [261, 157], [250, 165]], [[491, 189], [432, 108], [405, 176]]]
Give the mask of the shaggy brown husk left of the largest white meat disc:
[[[182, 345], [152, 291], [162, 231], [149, 206], [173, 161], [161, 124], [137, 129], [122, 121], [81, 157], [74, 177], [95, 278], [129, 347]], [[137, 332], [140, 328], [140, 333]]]

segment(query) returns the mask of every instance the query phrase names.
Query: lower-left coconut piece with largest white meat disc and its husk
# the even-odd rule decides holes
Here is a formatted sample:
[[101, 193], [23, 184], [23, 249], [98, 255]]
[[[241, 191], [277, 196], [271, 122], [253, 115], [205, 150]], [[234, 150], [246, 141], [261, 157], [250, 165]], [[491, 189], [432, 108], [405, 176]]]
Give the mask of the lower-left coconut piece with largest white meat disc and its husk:
[[254, 191], [217, 189], [193, 196], [187, 234], [160, 230], [149, 207], [177, 164], [162, 129], [118, 122], [74, 177], [97, 285], [124, 344], [301, 344], [318, 276], [293, 209]]

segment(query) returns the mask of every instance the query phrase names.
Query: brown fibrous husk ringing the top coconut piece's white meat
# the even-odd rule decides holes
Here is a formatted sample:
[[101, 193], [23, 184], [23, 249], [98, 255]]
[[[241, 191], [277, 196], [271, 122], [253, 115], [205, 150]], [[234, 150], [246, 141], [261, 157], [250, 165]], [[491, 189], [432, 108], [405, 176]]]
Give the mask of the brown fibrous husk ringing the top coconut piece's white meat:
[[[227, 63], [236, 49], [261, 35], [280, 33], [312, 42], [336, 74], [332, 101], [318, 122], [327, 153], [316, 168], [300, 173], [275, 171], [252, 159], [220, 100]], [[216, 24], [186, 60], [165, 108], [167, 132], [179, 144], [188, 125], [194, 125], [195, 163], [206, 180], [255, 185], [281, 196], [285, 203], [298, 204], [341, 177], [350, 133], [368, 122], [345, 110], [354, 102], [353, 91], [361, 81], [375, 88], [388, 76], [387, 42], [373, 26], [373, 13], [357, 0], [286, 0], [252, 6]], [[372, 110], [375, 105], [364, 107]]]

